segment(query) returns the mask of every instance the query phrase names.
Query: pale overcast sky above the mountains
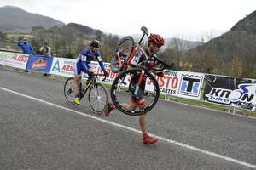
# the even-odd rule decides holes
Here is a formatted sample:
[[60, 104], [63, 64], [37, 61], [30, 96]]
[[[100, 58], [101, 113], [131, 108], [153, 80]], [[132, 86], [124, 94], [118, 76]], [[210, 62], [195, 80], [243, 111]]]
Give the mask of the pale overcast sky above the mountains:
[[[164, 37], [216, 37], [256, 10], [256, 0], [0, 0], [31, 13], [119, 35], [140, 27]], [[1, 23], [0, 23], [1, 24]]]

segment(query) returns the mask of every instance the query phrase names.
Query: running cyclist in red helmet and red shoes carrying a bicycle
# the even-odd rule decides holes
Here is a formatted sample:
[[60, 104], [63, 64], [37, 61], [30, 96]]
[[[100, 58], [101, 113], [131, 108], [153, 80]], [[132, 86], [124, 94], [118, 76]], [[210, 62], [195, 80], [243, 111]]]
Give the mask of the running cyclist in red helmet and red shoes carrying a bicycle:
[[[161, 46], [164, 45], [164, 38], [161, 37], [158, 34], [150, 34], [148, 37], [148, 48], [145, 50], [146, 54], [148, 56], [155, 55]], [[137, 54], [137, 56], [134, 57], [134, 59], [131, 61], [131, 66], [136, 67], [138, 64], [142, 63], [144, 60], [146, 60], [146, 56], [141, 52]], [[158, 72], [156, 74], [157, 76], [163, 77], [163, 72]], [[139, 75], [133, 75], [131, 77], [131, 82], [129, 85], [129, 89], [131, 91], [131, 102], [130, 104], [123, 104], [122, 106], [127, 110], [135, 110], [137, 107], [139, 107], [141, 110], [146, 107], [146, 100], [143, 98], [144, 89], [146, 86], [146, 80], [143, 80], [143, 82], [140, 85], [140, 92], [137, 93], [137, 95], [134, 95], [137, 78]], [[109, 116], [109, 113], [115, 109], [115, 105], [108, 104], [108, 107], [106, 111], [104, 111], [105, 116]], [[144, 144], [154, 144], [157, 142], [158, 139], [155, 139], [153, 137], [148, 136], [147, 133], [147, 117], [145, 114], [139, 116], [139, 123], [140, 127], [143, 133], [143, 143]]]

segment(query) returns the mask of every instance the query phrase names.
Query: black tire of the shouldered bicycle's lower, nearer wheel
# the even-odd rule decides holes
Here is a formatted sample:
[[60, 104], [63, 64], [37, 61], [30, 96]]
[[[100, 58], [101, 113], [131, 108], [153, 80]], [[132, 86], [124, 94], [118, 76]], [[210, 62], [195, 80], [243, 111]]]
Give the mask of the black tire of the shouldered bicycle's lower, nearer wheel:
[[[111, 95], [111, 99], [113, 101], [113, 105], [115, 105], [116, 108], [119, 111], [121, 111], [122, 113], [124, 113], [126, 115], [130, 115], [130, 116], [143, 115], [143, 114], [147, 113], [148, 111], [151, 111], [154, 108], [154, 105], [158, 102], [158, 99], [159, 99], [159, 96], [160, 96], [159, 84], [156, 81], [156, 79], [154, 78], [154, 76], [152, 74], [150, 74], [150, 72], [145, 71], [145, 76], [149, 79], [149, 81], [153, 84], [153, 87], [154, 87], [153, 88], [154, 93], [152, 93], [152, 96], [153, 96], [152, 101], [150, 103], [148, 102], [147, 106], [143, 110], [131, 111], [131, 110], [124, 109], [122, 107], [122, 103], [121, 103], [120, 100], [121, 100], [121, 98], [123, 98], [125, 96], [125, 94], [124, 94], [124, 91], [123, 91], [123, 94], [120, 94], [120, 96], [122, 96], [122, 97], [117, 97], [117, 93], [121, 93], [121, 92], [117, 92], [117, 89], [119, 89], [119, 87], [120, 87], [119, 82], [122, 82], [124, 77], [127, 77], [128, 75], [132, 75], [132, 74], [135, 74], [135, 73], [140, 73], [141, 71], [142, 71], [142, 69], [139, 69], [139, 68], [130, 69], [130, 70], [127, 70], [127, 71], [122, 71], [119, 74], [119, 76], [114, 79], [113, 84], [111, 86], [110, 95]], [[128, 87], [129, 86], [130, 86], [130, 84], [128, 85]], [[126, 94], [126, 95], [129, 95], [129, 94]], [[145, 92], [144, 92], [143, 95], [145, 95]], [[131, 99], [131, 94], [130, 94], [129, 97]]]

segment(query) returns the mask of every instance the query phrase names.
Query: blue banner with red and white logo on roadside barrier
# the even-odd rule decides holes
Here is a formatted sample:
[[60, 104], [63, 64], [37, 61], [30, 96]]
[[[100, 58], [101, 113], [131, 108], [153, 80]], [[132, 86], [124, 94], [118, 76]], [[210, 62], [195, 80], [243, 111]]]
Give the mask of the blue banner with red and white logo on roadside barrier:
[[29, 71], [49, 73], [53, 57], [44, 55], [30, 55], [26, 68]]

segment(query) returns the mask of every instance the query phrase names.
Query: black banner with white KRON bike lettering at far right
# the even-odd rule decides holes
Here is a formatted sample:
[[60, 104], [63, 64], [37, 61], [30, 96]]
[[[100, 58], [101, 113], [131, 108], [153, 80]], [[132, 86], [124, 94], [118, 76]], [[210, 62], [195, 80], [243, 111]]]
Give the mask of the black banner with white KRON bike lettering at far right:
[[223, 105], [235, 104], [242, 109], [256, 106], [256, 80], [206, 75], [204, 99]]

